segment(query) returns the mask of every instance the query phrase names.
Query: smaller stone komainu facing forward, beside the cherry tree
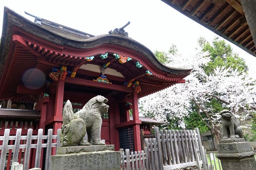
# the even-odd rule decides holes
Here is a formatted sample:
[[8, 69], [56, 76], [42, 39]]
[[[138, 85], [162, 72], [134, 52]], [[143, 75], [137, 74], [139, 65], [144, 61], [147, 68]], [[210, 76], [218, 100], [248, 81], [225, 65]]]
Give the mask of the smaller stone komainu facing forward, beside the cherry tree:
[[243, 131], [240, 125], [237, 122], [237, 118], [227, 109], [219, 112], [222, 119], [222, 128], [223, 128], [223, 139], [235, 139], [242, 138]]

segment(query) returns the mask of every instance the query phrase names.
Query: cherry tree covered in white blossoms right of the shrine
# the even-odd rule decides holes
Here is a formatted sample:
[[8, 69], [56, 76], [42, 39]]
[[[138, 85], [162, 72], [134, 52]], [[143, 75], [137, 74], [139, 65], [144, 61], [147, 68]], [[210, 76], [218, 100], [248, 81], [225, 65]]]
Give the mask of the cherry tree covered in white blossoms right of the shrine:
[[[205, 47], [208, 42], [203, 43]], [[220, 43], [223, 45], [222, 41]], [[209, 44], [207, 46], [209, 47]], [[219, 111], [224, 108], [229, 109], [240, 120], [240, 124], [244, 125], [243, 120], [252, 112], [253, 106], [248, 101], [256, 95], [255, 80], [248, 76], [247, 66], [241, 69], [242, 67], [236, 68], [230, 63], [229, 66], [223, 64], [227, 57], [231, 59], [233, 57], [235, 62], [241, 60], [236, 54], [231, 56], [230, 49], [227, 49], [228, 55], [219, 56], [217, 54], [221, 51], [213, 48], [216, 53], [213, 57], [209, 49], [199, 48], [195, 56], [188, 58], [181, 57], [174, 50], [173, 55], [169, 54], [169, 60], [172, 61], [170, 64], [182, 66], [182, 68], [193, 68], [193, 71], [185, 78], [185, 84], [176, 84], [142, 98], [139, 101], [140, 113], [165, 122], [165, 128], [172, 128], [170, 123], [173, 122], [181, 127], [185, 126], [184, 118], [189, 116], [192, 102], [197, 108], [196, 112], [201, 117], [201, 121], [211, 130], [217, 143], [221, 139]], [[219, 66], [216, 64], [216, 58], [217, 62], [220, 62], [220, 59], [223, 60]], [[231, 60], [230, 58], [228, 61]]]

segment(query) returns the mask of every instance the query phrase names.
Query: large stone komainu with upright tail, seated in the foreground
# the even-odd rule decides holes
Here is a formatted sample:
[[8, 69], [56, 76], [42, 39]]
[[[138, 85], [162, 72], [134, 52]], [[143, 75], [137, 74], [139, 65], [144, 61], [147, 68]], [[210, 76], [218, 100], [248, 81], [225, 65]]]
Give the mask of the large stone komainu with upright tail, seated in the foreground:
[[[101, 115], [108, 111], [105, 103], [108, 99], [96, 96], [90, 99], [77, 113], [73, 113], [72, 105], [68, 100], [63, 108], [63, 124], [61, 127], [61, 147], [77, 145], [105, 145], [101, 141]], [[83, 137], [87, 132], [88, 141]]]

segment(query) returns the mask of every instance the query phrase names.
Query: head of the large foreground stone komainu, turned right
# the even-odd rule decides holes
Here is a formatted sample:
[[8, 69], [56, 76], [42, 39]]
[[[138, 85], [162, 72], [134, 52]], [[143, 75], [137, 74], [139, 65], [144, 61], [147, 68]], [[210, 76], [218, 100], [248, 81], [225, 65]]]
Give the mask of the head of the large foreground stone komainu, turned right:
[[103, 96], [96, 96], [92, 99], [90, 99], [87, 104], [89, 105], [89, 109], [94, 109], [95, 113], [99, 113], [102, 115], [103, 113], [107, 112], [109, 109], [109, 106], [105, 103], [109, 100], [104, 98]]

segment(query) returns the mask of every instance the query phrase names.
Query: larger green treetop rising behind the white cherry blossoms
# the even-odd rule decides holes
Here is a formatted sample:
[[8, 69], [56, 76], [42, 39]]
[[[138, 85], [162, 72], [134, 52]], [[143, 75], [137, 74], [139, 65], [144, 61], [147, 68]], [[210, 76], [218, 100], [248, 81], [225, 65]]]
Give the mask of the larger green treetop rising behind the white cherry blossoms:
[[211, 56], [211, 62], [204, 66], [204, 71], [207, 75], [213, 72], [216, 67], [225, 68], [231, 67], [233, 70], [238, 69], [241, 72], [247, 72], [248, 67], [244, 60], [238, 56], [237, 53], [232, 51], [230, 45], [226, 44], [225, 40], [219, 40], [218, 37], [214, 38], [212, 44], [200, 37], [198, 39], [198, 45], [204, 52], [209, 52]]

